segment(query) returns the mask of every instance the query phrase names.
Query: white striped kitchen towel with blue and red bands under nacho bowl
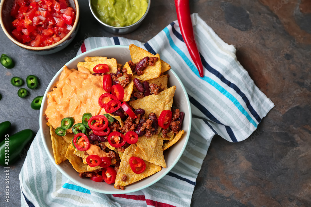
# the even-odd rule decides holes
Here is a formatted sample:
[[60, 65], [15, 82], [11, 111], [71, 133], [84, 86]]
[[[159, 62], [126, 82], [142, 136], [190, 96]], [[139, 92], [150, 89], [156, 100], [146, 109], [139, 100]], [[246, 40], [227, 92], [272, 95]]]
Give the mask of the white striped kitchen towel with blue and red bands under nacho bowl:
[[119, 37], [87, 38], [77, 54], [107, 45], [135, 44], [159, 53], [171, 65], [187, 90], [193, 113], [189, 142], [175, 167], [141, 191], [100, 194], [62, 175], [48, 158], [38, 132], [19, 175], [22, 206], [190, 206], [212, 137], [219, 134], [229, 142], [242, 141], [274, 106], [236, 60], [234, 46], [222, 41], [197, 14], [192, 15], [192, 21], [204, 66], [203, 78], [188, 53], [178, 21], [147, 43]]

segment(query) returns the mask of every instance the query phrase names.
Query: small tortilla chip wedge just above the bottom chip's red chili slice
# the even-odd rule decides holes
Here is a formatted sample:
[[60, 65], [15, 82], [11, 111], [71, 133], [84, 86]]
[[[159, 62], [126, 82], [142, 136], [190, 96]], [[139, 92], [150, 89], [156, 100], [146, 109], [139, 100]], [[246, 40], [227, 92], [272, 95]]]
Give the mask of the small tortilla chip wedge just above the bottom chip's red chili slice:
[[154, 134], [149, 138], [147, 138], [145, 135], [138, 138], [138, 141], [136, 142], [136, 144], [142, 150], [142, 152], [146, 155], [144, 160], [148, 162], [149, 160], [151, 160], [155, 147], [156, 147], [157, 140], [158, 140], [157, 134]]

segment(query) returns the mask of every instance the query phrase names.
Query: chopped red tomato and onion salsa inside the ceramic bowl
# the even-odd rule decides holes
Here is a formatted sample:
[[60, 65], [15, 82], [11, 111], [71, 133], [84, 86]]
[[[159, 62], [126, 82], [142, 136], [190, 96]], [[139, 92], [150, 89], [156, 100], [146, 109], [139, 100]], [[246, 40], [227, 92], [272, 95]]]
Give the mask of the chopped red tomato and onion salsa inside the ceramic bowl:
[[31, 47], [57, 43], [72, 29], [76, 12], [68, 0], [15, 0], [12, 35]]

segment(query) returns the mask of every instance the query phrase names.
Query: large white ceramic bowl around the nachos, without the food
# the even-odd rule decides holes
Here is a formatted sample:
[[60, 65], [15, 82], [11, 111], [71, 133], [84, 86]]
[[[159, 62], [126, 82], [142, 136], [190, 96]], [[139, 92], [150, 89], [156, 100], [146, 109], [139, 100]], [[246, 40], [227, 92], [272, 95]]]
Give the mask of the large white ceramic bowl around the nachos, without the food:
[[[127, 46], [106, 46], [106, 47], [99, 47], [87, 52], [82, 53], [81, 55], [73, 58], [71, 61], [69, 61], [66, 65], [68, 68], [76, 68], [77, 69], [77, 63], [84, 61], [85, 56], [106, 56], [108, 58], [115, 58], [118, 63], [122, 63], [123, 65], [131, 60], [130, 52]], [[169, 63], [169, 62], [168, 62]], [[47, 92], [51, 91], [53, 84], [58, 81], [59, 75], [62, 72], [62, 68], [58, 71], [57, 74], [53, 77], [51, 80], [48, 88], [46, 89], [44, 93], [43, 102], [40, 109], [40, 118], [39, 118], [39, 124], [40, 124], [40, 133], [42, 142], [44, 145], [44, 148], [50, 158], [50, 161], [55, 164], [54, 157], [53, 157], [53, 150], [51, 145], [51, 135], [49, 133], [49, 127], [46, 125], [47, 120], [45, 119], [44, 111], [47, 106]], [[76, 183], [77, 185], [84, 187], [86, 189], [89, 189], [91, 191], [96, 191], [100, 193], [106, 193], [106, 194], [123, 194], [123, 193], [130, 193], [134, 191], [142, 190], [161, 178], [163, 178], [177, 163], [181, 155], [183, 154], [183, 151], [187, 145], [189, 135], [190, 135], [190, 128], [191, 128], [191, 108], [190, 108], [190, 102], [189, 98], [186, 92], [186, 89], [183, 86], [183, 83], [181, 83], [180, 79], [177, 77], [175, 72], [171, 69], [166, 74], [169, 74], [169, 82], [168, 86], [177, 86], [175, 95], [174, 95], [174, 102], [173, 106], [178, 107], [181, 111], [185, 113], [185, 117], [183, 120], [182, 129], [185, 130], [185, 133], [183, 134], [182, 138], [173, 146], [171, 146], [168, 150], [164, 151], [164, 158], [167, 167], [162, 168], [160, 172], [157, 172], [147, 178], [144, 178], [138, 182], [135, 182], [133, 184], [130, 184], [124, 188], [124, 190], [117, 190], [114, 188], [112, 184], [107, 184], [105, 182], [94, 182], [89, 178], [80, 178], [79, 174], [75, 169], [72, 168], [72, 165], [67, 160], [66, 162], [63, 162], [62, 164], [55, 164], [57, 169], [63, 173], [67, 178], [69, 178], [72, 182]]]

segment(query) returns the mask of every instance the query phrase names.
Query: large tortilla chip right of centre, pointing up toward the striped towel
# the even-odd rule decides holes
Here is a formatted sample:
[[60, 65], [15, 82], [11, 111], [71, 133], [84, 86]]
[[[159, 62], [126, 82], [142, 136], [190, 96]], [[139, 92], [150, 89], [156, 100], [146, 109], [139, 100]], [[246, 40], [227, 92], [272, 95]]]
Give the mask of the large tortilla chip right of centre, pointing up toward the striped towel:
[[142, 108], [146, 111], [146, 118], [153, 112], [159, 118], [159, 115], [163, 110], [171, 110], [173, 105], [173, 97], [176, 90], [176, 86], [168, 88], [158, 95], [152, 94], [150, 96], [145, 96], [134, 101], [130, 101], [130, 105], [134, 109]]

